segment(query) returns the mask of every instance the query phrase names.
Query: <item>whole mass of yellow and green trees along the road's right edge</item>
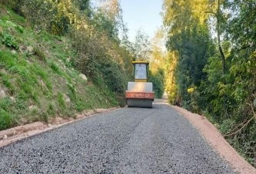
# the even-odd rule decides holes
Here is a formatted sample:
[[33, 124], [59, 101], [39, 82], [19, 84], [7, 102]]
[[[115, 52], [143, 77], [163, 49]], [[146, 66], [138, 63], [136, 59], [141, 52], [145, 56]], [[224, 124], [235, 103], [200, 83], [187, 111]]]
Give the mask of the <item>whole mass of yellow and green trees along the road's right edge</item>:
[[204, 114], [256, 166], [256, 4], [168, 1], [163, 19], [172, 104]]

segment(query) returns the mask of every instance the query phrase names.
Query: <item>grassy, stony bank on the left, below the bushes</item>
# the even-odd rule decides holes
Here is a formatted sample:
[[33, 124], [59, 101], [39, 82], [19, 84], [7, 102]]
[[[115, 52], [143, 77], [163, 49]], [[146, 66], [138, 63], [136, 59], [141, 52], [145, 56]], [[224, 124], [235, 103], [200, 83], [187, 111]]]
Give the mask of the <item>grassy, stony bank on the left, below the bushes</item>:
[[79, 77], [68, 37], [32, 31], [24, 18], [0, 8], [0, 130], [118, 106], [108, 87]]

